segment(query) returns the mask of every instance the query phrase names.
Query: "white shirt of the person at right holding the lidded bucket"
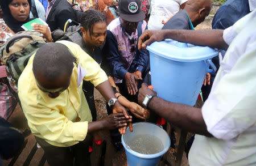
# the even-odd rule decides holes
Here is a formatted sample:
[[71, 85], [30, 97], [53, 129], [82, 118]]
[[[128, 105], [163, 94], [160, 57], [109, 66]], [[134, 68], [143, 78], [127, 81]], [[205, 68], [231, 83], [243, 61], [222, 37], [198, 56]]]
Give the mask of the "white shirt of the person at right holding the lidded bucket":
[[207, 130], [196, 135], [189, 165], [256, 165], [256, 10], [225, 29], [229, 48], [202, 108]]

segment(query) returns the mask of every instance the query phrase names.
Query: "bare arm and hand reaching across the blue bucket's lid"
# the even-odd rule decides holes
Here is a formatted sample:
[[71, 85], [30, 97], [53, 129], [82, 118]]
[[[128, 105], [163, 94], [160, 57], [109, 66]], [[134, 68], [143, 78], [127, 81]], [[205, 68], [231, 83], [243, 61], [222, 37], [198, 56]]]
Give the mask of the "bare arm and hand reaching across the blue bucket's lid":
[[164, 29], [159, 31], [146, 30], [141, 37], [139, 37], [138, 48], [146, 49], [146, 46], [150, 45], [152, 42], [162, 41], [164, 39], [172, 39], [224, 50], [228, 48], [228, 45], [223, 39], [222, 29], [204, 29], [193, 31], [181, 29]]

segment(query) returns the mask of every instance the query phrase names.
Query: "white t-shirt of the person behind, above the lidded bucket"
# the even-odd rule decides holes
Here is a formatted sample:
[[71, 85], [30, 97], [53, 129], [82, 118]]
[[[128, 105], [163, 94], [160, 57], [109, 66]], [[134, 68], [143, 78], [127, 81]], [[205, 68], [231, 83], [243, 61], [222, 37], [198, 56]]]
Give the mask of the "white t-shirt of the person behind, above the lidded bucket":
[[162, 20], [167, 21], [170, 16], [174, 16], [185, 2], [187, 0], [152, 0], [148, 29], [162, 29]]

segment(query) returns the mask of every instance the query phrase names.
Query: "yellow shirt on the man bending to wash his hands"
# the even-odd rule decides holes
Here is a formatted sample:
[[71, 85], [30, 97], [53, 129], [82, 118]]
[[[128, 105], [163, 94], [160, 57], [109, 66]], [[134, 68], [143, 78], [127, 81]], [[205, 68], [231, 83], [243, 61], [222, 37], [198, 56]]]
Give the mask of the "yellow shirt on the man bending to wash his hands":
[[[85, 139], [88, 122], [92, 121], [88, 103], [82, 92], [82, 81], [80, 84], [78, 82], [79, 77], [82, 76], [94, 86], [105, 82], [108, 77], [79, 45], [69, 41], [59, 42], [69, 48], [79, 64], [73, 68], [67, 90], [61, 92], [56, 99], [41, 91], [36, 86], [32, 71], [32, 56], [20, 75], [18, 95], [32, 134], [45, 139], [53, 146], [67, 147]], [[86, 72], [84, 76], [79, 72], [81, 70]]]

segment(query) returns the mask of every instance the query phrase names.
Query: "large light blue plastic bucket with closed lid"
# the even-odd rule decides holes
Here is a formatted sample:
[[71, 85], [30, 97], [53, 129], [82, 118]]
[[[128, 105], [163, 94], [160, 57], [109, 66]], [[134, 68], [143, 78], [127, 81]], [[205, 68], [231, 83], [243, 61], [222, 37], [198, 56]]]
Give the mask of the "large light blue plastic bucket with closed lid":
[[147, 50], [151, 83], [158, 96], [172, 103], [195, 105], [205, 75], [216, 71], [211, 58], [218, 51], [174, 40], [153, 42]]

